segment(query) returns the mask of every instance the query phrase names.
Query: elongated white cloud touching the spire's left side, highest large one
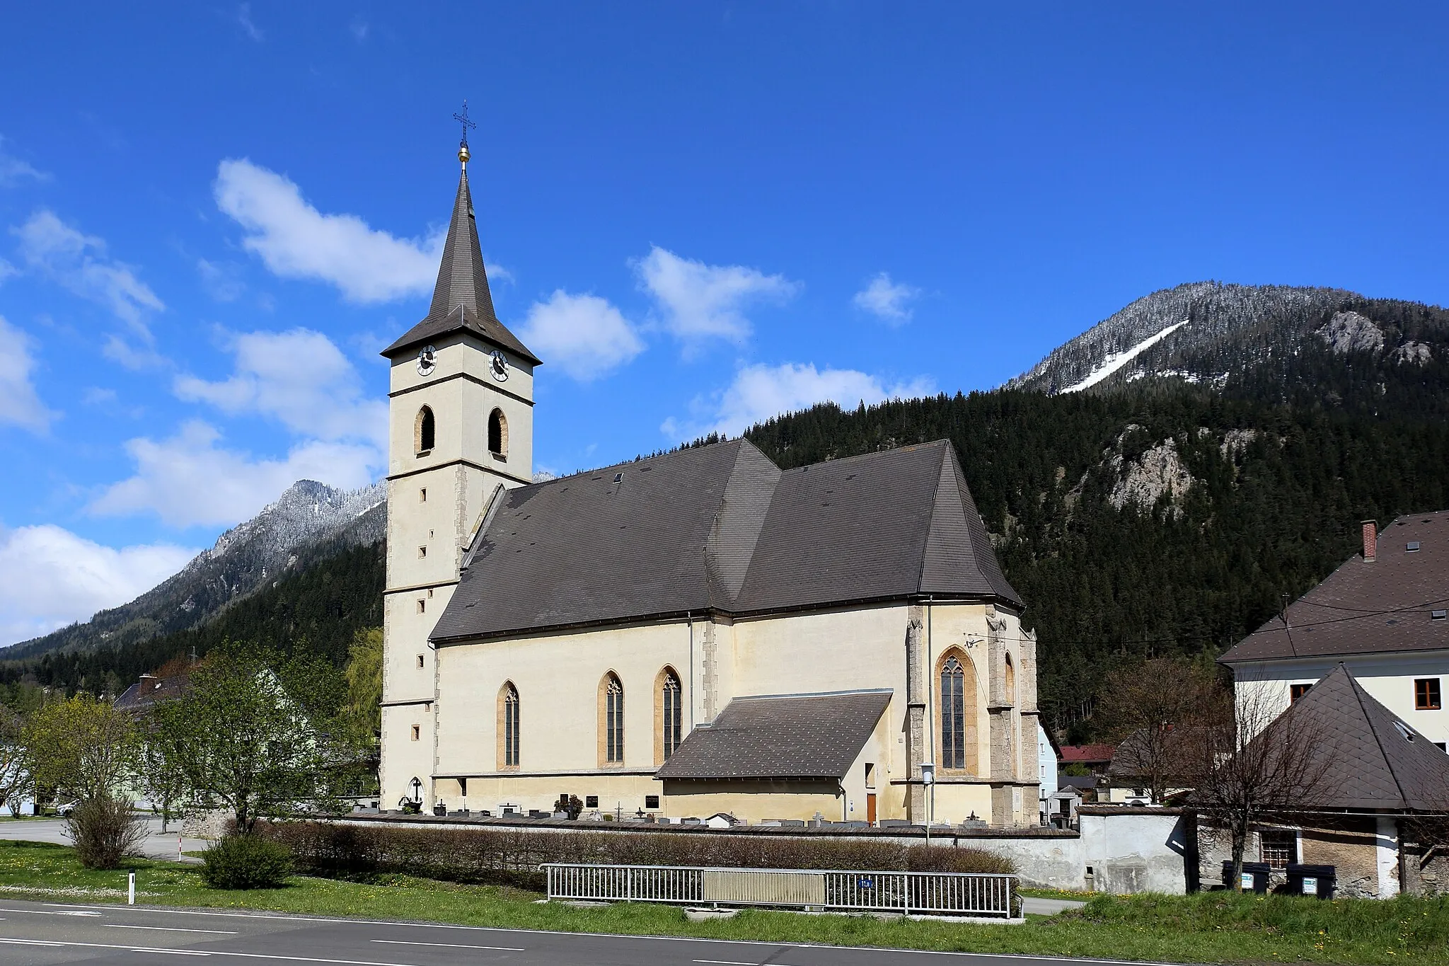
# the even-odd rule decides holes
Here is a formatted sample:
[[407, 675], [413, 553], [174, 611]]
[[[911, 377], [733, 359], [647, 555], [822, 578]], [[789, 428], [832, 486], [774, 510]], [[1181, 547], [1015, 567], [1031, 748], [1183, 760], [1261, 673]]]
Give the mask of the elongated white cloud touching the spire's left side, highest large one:
[[242, 245], [283, 278], [336, 285], [356, 303], [432, 291], [442, 235], [393, 238], [355, 214], [323, 214], [284, 175], [229, 158], [212, 187], [217, 207], [246, 229]]

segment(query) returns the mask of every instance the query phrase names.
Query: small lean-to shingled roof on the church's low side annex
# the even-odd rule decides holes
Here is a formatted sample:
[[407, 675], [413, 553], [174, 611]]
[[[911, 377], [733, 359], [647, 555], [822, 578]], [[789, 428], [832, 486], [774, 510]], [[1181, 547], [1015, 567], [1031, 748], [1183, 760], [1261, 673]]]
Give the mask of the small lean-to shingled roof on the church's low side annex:
[[891, 691], [735, 698], [655, 772], [664, 779], [845, 778]]

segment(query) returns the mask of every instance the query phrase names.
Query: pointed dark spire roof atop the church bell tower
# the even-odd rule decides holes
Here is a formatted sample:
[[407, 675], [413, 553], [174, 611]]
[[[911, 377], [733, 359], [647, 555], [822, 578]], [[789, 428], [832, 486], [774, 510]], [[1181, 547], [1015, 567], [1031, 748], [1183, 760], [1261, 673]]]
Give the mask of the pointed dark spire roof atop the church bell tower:
[[438, 266], [438, 282], [433, 287], [427, 317], [383, 349], [383, 355], [393, 356], [452, 332], [471, 332], [535, 365], [539, 364], [538, 356], [529, 352], [493, 311], [493, 293], [488, 290], [488, 272], [483, 266], [483, 248], [478, 245], [478, 226], [472, 213], [467, 169], [458, 178], [448, 240], [443, 242], [443, 261]]

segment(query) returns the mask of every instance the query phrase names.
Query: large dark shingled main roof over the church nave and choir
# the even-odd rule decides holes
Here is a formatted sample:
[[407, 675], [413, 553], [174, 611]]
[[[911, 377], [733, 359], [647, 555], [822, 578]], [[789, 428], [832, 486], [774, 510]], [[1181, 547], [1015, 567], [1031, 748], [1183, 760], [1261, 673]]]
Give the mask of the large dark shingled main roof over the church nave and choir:
[[730, 440], [498, 498], [435, 642], [926, 595], [1022, 605], [945, 440], [785, 474]]

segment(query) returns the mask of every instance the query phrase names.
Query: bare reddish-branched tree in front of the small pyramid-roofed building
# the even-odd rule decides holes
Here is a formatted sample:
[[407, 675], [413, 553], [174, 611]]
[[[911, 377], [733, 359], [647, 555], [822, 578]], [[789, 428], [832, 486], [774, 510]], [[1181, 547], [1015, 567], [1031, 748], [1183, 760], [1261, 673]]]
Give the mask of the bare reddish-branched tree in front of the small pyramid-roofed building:
[[1184, 736], [1193, 804], [1233, 843], [1230, 888], [1239, 889], [1243, 852], [1256, 824], [1311, 811], [1332, 791], [1336, 746], [1295, 708], [1278, 713], [1271, 695], [1246, 691], [1235, 701], [1222, 689], [1206, 710], [1206, 727]]

